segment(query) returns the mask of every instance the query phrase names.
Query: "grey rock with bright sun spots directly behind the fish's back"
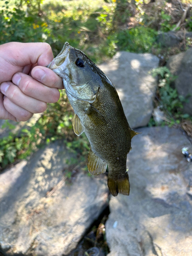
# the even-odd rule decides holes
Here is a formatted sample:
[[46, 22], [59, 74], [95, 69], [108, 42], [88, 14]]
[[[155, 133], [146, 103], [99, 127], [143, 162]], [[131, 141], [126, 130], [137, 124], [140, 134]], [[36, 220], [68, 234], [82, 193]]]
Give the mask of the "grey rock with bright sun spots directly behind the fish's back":
[[151, 118], [157, 80], [150, 71], [158, 64], [159, 59], [152, 54], [117, 52], [109, 62], [99, 65], [117, 89], [132, 128], [147, 125]]

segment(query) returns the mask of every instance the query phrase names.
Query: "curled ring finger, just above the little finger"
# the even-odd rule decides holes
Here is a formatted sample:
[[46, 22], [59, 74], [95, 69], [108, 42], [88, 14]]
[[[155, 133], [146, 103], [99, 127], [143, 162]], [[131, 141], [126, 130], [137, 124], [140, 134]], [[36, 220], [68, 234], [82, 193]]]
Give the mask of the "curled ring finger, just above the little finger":
[[25, 95], [12, 82], [3, 82], [0, 86], [1, 92], [13, 103], [31, 113], [41, 113], [47, 109], [47, 103]]

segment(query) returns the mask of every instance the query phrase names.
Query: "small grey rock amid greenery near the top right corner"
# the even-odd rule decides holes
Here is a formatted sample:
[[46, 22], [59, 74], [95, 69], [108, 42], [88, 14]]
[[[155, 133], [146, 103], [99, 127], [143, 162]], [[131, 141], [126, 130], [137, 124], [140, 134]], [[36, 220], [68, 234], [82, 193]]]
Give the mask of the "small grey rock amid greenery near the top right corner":
[[192, 32], [186, 31], [169, 31], [166, 33], [161, 33], [157, 35], [157, 42], [162, 47], [173, 47], [179, 45], [180, 42], [184, 40], [184, 38], [192, 39]]

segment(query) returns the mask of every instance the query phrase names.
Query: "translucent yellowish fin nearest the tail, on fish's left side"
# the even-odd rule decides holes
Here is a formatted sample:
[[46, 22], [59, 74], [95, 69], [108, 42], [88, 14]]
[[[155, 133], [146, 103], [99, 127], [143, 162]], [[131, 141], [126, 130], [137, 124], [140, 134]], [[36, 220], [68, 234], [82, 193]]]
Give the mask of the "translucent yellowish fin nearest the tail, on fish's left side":
[[100, 159], [92, 150], [88, 155], [88, 170], [92, 175], [99, 175], [106, 172], [106, 163]]

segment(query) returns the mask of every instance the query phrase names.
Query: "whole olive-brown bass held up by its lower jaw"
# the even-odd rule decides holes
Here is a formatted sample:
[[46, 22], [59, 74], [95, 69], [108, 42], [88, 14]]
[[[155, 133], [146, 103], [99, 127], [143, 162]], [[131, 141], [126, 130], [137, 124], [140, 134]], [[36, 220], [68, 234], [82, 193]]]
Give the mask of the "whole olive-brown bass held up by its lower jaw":
[[108, 187], [115, 197], [130, 194], [126, 157], [132, 138], [131, 129], [118, 93], [110, 79], [86, 54], [65, 43], [48, 68], [63, 80], [75, 116], [73, 129], [90, 141], [88, 170], [96, 176], [109, 167]]

